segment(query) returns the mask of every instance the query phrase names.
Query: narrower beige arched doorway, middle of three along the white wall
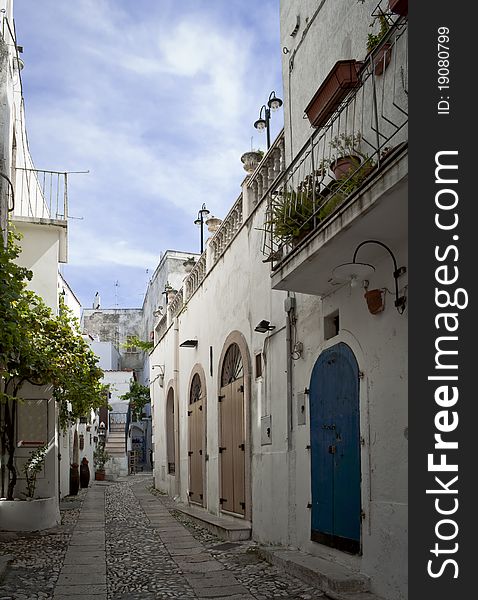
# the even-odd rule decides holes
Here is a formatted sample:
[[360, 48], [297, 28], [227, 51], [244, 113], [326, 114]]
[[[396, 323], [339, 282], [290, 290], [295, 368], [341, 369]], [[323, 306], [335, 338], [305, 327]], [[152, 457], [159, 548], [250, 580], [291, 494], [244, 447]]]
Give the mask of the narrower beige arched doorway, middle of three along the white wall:
[[189, 388], [189, 499], [203, 505], [204, 407], [205, 393], [199, 373], [193, 375]]

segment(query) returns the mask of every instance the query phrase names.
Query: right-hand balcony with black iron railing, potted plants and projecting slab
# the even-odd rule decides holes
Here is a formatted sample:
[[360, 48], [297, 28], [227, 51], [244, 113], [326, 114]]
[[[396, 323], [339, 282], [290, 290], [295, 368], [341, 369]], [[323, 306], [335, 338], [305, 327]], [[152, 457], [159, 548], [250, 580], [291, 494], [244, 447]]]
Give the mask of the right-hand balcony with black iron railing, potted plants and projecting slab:
[[407, 21], [394, 20], [357, 83], [267, 190], [272, 287], [327, 294], [365, 237], [406, 239]]

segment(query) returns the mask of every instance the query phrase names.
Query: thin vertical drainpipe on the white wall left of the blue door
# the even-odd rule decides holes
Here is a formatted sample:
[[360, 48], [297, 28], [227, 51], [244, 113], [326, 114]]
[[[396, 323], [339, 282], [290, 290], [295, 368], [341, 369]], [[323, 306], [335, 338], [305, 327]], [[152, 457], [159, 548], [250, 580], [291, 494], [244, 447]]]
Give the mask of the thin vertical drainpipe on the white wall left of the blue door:
[[287, 360], [287, 464], [288, 464], [288, 542], [290, 545], [297, 545], [296, 533], [296, 452], [292, 440], [293, 431], [293, 380], [292, 380], [292, 318], [295, 311], [295, 296], [287, 292], [284, 301], [284, 310], [286, 311], [286, 360]]

